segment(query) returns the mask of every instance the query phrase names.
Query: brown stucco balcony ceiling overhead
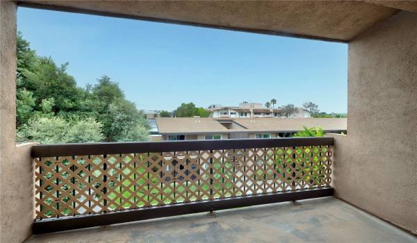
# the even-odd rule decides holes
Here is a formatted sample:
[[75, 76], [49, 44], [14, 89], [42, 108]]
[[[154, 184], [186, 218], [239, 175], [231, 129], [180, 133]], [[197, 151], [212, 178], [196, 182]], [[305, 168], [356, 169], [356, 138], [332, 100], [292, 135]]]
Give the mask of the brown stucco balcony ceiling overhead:
[[347, 42], [406, 1], [20, 1], [23, 5]]

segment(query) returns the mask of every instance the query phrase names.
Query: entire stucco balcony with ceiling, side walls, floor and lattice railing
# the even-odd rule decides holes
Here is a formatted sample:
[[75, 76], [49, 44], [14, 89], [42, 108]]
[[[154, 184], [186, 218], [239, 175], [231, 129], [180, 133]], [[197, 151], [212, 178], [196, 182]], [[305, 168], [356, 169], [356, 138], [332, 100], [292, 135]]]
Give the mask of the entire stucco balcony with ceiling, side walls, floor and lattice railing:
[[[0, 242], [416, 242], [415, 2], [0, 5]], [[345, 42], [349, 135], [316, 140], [322, 144], [16, 146], [18, 5]], [[311, 148], [313, 156], [300, 148]], [[207, 218], [211, 210], [216, 216]], [[47, 233], [55, 231], [61, 232]]]

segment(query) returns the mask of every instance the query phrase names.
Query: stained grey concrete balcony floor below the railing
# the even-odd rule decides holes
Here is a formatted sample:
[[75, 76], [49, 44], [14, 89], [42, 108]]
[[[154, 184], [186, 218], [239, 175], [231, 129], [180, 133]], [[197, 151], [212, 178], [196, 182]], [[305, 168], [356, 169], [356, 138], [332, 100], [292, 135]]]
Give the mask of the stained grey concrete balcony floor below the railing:
[[152, 219], [26, 242], [417, 242], [409, 233], [332, 197]]

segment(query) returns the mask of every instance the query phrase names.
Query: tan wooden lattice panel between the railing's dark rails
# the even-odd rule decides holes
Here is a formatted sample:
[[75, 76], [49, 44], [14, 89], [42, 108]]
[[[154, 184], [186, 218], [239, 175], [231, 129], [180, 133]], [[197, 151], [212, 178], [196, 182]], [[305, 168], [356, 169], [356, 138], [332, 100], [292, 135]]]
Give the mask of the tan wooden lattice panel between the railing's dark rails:
[[35, 158], [36, 218], [330, 187], [332, 146]]

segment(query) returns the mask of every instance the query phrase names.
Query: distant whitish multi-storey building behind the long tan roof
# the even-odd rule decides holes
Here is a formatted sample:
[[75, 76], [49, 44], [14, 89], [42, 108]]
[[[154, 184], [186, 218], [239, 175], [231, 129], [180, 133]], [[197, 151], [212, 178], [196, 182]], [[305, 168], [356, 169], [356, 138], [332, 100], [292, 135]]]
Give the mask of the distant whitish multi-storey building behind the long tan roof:
[[[262, 103], [239, 103], [239, 106], [222, 106], [219, 104], [208, 106], [214, 118], [237, 117], [280, 117], [281, 108], [267, 108]], [[310, 112], [304, 108], [297, 108], [291, 117], [310, 117]]]

